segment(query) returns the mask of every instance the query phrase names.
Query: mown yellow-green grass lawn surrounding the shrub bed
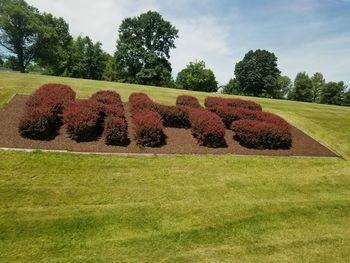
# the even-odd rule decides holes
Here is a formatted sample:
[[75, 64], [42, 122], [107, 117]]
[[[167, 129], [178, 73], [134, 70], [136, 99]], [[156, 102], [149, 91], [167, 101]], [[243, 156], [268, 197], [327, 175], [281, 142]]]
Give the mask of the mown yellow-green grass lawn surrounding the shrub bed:
[[[46, 82], [185, 93], [0, 73], [0, 101]], [[349, 262], [350, 108], [252, 99], [343, 159], [0, 151], [0, 262]]]

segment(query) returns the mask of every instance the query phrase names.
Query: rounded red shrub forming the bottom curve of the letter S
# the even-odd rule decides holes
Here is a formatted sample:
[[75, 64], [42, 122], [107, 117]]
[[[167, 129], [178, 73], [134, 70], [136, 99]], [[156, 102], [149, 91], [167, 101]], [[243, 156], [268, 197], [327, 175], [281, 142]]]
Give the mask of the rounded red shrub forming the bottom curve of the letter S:
[[257, 120], [240, 120], [232, 123], [234, 139], [243, 146], [256, 149], [288, 149], [292, 134], [287, 126]]

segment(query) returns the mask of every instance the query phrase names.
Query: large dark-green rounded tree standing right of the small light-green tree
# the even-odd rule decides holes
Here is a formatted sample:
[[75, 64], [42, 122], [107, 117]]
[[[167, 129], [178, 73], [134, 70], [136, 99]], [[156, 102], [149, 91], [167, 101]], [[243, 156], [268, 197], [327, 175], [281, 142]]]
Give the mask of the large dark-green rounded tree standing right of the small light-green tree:
[[267, 50], [251, 50], [235, 66], [238, 90], [245, 95], [275, 98], [280, 73], [277, 57]]

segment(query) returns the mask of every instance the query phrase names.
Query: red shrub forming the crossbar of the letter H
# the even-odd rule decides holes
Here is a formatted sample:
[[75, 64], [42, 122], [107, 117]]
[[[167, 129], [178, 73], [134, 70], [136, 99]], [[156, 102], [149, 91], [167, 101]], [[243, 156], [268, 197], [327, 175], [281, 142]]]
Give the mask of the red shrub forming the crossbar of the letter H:
[[190, 120], [187, 111], [177, 106], [155, 104], [154, 110], [160, 114], [165, 127], [189, 128]]

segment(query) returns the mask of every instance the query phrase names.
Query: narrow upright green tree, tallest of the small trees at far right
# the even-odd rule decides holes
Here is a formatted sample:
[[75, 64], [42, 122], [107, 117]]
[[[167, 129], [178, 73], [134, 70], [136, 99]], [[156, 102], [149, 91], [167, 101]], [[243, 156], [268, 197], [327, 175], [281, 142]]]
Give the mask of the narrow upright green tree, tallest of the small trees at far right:
[[298, 101], [312, 101], [312, 81], [305, 72], [297, 74], [294, 80], [292, 99]]

